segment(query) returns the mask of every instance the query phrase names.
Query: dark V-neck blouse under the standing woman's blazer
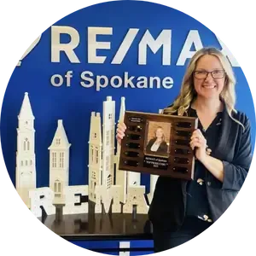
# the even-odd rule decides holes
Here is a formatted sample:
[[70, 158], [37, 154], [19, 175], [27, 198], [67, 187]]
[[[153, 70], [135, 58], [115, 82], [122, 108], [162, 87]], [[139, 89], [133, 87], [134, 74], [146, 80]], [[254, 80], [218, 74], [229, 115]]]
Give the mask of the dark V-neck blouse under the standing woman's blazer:
[[[196, 111], [193, 108], [189, 109], [189, 116], [197, 117]], [[207, 148], [214, 152], [218, 144], [218, 137], [222, 123], [222, 113], [219, 112], [212, 124], [204, 131], [200, 120], [198, 120], [198, 128], [202, 135], [207, 139]], [[211, 155], [211, 154], [210, 154]], [[207, 221], [211, 221], [211, 213], [207, 201], [207, 189], [205, 177], [209, 172], [199, 160], [195, 160], [195, 176], [194, 180], [187, 185], [187, 216], [194, 216]]]

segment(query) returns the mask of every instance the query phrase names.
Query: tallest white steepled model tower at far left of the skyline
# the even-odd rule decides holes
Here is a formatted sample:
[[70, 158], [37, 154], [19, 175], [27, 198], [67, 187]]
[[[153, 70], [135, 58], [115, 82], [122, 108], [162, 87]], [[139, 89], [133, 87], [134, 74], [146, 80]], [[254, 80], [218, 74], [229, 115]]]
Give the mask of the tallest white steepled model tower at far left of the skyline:
[[29, 209], [29, 191], [37, 187], [34, 119], [26, 92], [18, 115], [15, 187], [20, 200]]

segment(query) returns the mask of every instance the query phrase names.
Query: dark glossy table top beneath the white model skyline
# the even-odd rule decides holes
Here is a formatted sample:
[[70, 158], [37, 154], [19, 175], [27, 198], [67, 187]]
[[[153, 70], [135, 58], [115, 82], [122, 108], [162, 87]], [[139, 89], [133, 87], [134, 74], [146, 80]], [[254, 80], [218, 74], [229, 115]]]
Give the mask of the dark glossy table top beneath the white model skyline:
[[55, 236], [67, 240], [152, 239], [152, 224], [148, 220], [148, 214], [54, 214], [37, 219]]

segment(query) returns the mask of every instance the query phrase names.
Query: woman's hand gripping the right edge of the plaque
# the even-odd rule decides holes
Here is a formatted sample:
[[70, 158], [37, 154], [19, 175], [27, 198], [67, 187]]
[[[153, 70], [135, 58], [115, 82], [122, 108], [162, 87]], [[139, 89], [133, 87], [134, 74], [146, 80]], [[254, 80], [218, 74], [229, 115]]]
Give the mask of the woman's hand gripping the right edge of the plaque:
[[203, 162], [203, 160], [205, 160], [207, 157], [207, 140], [199, 129], [193, 132], [190, 141], [190, 147], [192, 150], [195, 149], [195, 157], [197, 160]]

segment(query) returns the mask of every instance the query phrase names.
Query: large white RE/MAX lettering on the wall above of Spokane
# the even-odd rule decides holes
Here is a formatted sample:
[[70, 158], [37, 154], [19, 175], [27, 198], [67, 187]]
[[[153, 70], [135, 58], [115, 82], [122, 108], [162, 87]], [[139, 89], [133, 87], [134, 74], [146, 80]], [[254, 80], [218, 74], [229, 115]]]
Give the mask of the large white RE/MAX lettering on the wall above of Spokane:
[[[71, 63], [80, 63], [79, 56], [75, 53], [74, 49], [79, 46], [80, 35], [79, 32], [72, 26], [50, 26], [51, 27], [51, 61], [61, 62], [61, 51], [65, 52], [68, 60]], [[87, 62], [90, 64], [103, 64], [105, 63], [107, 56], [97, 55], [97, 49], [109, 49], [111, 50], [111, 42], [98, 41], [97, 36], [99, 35], [113, 35], [113, 27], [87, 27]], [[129, 28], [123, 41], [119, 44], [119, 48], [113, 55], [111, 64], [120, 65], [127, 56], [131, 45], [134, 43], [139, 28]], [[67, 44], [61, 44], [61, 34], [67, 34], [70, 36], [70, 42]], [[230, 51], [229, 47], [224, 44], [221, 38], [215, 35], [219, 45], [222, 48], [224, 55], [228, 57], [233, 67], [240, 67], [239, 61], [236, 55]], [[195, 50], [201, 49], [203, 44], [201, 42], [200, 34], [197, 30], [190, 30], [187, 38], [183, 43], [183, 48], [178, 55], [176, 65], [183, 66], [187, 59], [191, 58], [195, 51], [191, 51], [191, 47], [195, 46]], [[143, 38], [138, 44], [137, 51], [137, 64], [147, 65], [147, 51], [148, 48], [156, 54], [161, 48], [161, 63], [164, 66], [170, 66], [172, 61], [172, 30], [163, 29], [157, 38], [153, 38], [149, 30], [146, 30], [143, 34]]]

